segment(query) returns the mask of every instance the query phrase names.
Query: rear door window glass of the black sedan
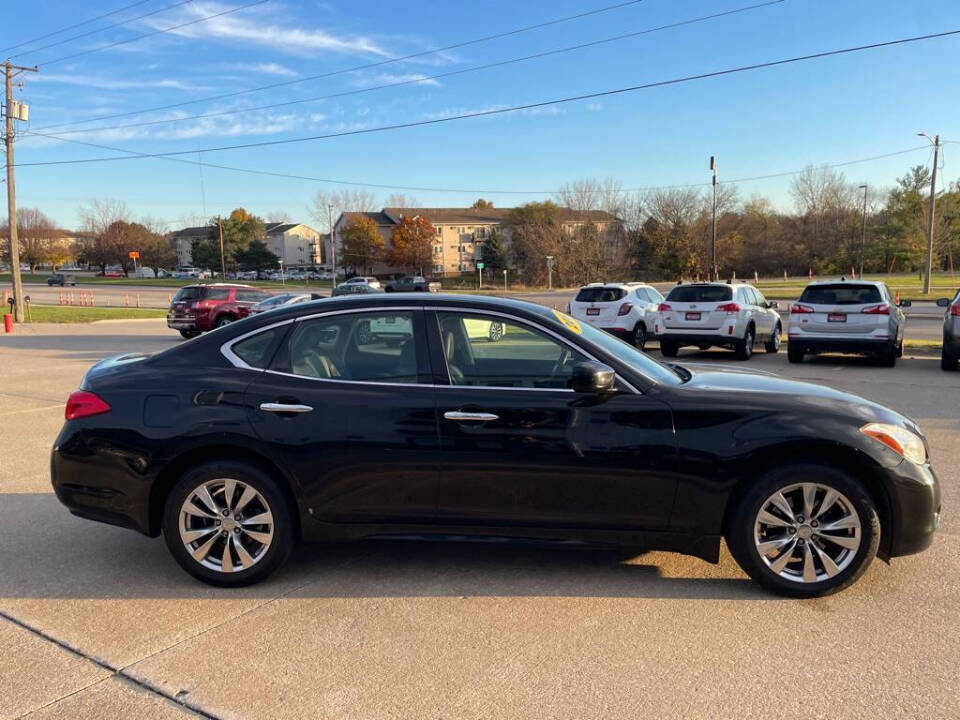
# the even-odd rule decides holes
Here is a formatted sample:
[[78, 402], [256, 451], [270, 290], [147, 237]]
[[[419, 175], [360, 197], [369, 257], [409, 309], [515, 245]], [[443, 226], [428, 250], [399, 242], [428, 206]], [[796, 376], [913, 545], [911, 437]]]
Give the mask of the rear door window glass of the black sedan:
[[412, 312], [369, 312], [304, 320], [291, 334], [286, 371], [321, 380], [414, 384]]

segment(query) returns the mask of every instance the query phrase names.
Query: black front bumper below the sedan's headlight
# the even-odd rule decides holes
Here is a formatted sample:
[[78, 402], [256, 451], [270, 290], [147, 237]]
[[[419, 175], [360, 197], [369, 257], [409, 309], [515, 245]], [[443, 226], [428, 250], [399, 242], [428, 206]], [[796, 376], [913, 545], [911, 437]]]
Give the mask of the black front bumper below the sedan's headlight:
[[904, 460], [886, 473], [892, 517], [884, 549], [890, 557], [926, 550], [940, 524], [940, 483], [933, 468]]

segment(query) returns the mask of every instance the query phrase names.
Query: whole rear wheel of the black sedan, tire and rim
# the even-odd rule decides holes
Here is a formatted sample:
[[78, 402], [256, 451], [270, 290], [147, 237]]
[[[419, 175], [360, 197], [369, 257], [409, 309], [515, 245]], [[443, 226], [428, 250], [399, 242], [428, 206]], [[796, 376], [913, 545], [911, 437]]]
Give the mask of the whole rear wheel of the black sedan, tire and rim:
[[273, 478], [258, 467], [206, 463], [184, 474], [167, 496], [163, 536], [194, 577], [211, 585], [250, 585], [290, 555], [293, 513]]

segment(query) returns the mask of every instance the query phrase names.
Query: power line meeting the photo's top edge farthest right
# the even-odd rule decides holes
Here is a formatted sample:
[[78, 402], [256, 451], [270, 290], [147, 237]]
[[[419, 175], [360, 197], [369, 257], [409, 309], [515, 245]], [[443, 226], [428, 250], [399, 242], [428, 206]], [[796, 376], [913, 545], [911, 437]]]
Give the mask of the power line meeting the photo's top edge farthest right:
[[374, 92], [376, 90], [385, 90], [389, 88], [403, 87], [407, 85], [417, 85], [420, 83], [429, 82], [431, 80], [441, 80], [443, 78], [448, 78], [455, 75], [465, 75], [467, 73], [478, 72], [480, 70], [489, 70], [491, 68], [503, 67], [506, 65], [513, 65], [521, 62], [526, 62], [528, 60], [535, 60], [539, 58], [549, 57], [552, 55], [559, 55], [562, 53], [572, 52], [575, 50], [583, 50], [585, 48], [596, 47], [598, 45], [603, 45], [606, 43], [617, 42], [620, 40], [628, 40], [630, 38], [640, 37], [642, 35], [648, 35], [650, 33], [660, 32], [662, 30], [669, 30], [677, 27], [683, 27], [686, 25], [693, 25], [695, 23], [704, 22], [707, 20], [715, 20], [717, 18], [726, 17], [729, 15], [735, 15], [738, 13], [744, 13], [751, 10], [757, 10], [760, 8], [769, 7], [771, 5], [779, 5], [785, 1], [786, 0], [768, 0], [768, 2], [757, 3], [755, 5], [747, 5], [747, 6], [736, 8], [733, 10], [713, 13], [712, 15], [703, 15], [703, 16], [691, 18], [688, 20], [681, 20], [679, 22], [669, 23], [667, 25], [660, 25], [653, 28], [647, 28], [645, 30], [637, 30], [634, 32], [624, 33], [622, 35], [614, 35], [613, 37], [603, 38], [601, 40], [593, 40], [591, 42], [580, 43], [578, 45], [570, 45], [567, 47], [557, 48], [554, 50], [546, 50], [544, 52], [534, 53], [533, 55], [524, 55], [523, 57], [511, 58], [509, 60], [500, 60], [498, 62], [487, 63], [485, 65], [475, 65], [473, 67], [461, 68], [459, 70], [450, 70], [448, 72], [439, 73], [437, 75], [429, 75], [429, 76], [418, 77], [413, 79], [401, 80], [398, 82], [384, 83], [382, 85], [373, 85], [371, 87], [359, 88], [356, 90], [345, 90], [342, 92], [330, 93], [327, 95], [317, 95], [315, 97], [300, 98], [298, 100], [289, 100], [289, 101], [280, 102], [280, 103], [272, 103], [270, 105], [258, 105], [255, 107], [240, 108], [235, 110], [221, 110], [218, 112], [203, 113], [200, 115], [188, 115], [185, 117], [164, 118], [162, 120], [145, 120], [143, 122], [124, 123], [122, 125], [108, 125], [105, 127], [79, 128], [75, 130], [57, 130], [56, 132], [60, 135], [77, 135], [82, 133], [91, 133], [91, 132], [98, 132], [98, 131], [105, 131], [105, 130], [123, 130], [127, 128], [135, 128], [135, 127], [164, 125], [167, 123], [186, 122], [189, 120], [202, 120], [202, 119], [211, 118], [211, 117], [223, 117], [225, 115], [237, 115], [241, 113], [258, 112], [260, 110], [275, 110], [276, 108], [289, 107], [291, 105], [302, 105], [304, 103], [318, 102], [320, 100], [330, 100], [332, 98], [359, 95], [363, 93]]

